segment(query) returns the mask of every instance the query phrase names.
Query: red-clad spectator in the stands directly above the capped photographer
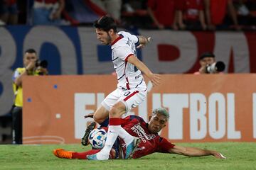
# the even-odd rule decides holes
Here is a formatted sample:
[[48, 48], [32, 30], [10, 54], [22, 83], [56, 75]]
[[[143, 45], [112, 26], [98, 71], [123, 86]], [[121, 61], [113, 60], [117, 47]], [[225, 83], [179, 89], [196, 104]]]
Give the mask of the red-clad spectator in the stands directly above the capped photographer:
[[206, 11], [206, 22], [209, 30], [219, 29], [223, 26], [223, 21], [227, 13], [230, 14], [230, 18], [233, 21], [235, 30], [240, 30], [238, 25], [238, 18], [233, 6], [232, 0], [204, 0]]

